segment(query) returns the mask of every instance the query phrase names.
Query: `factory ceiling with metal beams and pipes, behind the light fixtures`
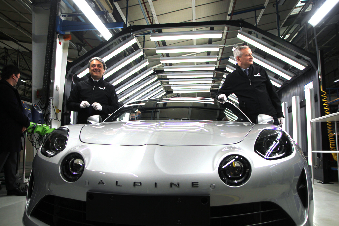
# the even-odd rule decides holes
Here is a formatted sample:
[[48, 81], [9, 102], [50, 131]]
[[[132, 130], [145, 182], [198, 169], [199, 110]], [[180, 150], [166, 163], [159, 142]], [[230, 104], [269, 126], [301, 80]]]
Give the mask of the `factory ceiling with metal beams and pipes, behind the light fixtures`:
[[[0, 19], [2, 20], [0, 25], [0, 66], [10, 63], [19, 65], [22, 78], [27, 81], [24, 86], [20, 87], [19, 91], [21, 91], [21, 96], [29, 99], [29, 95], [32, 95], [32, 7], [49, 10], [50, 1], [0, 1], [4, 3], [0, 9]], [[66, 78], [74, 76], [74, 73], [79, 73], [81, 68], [86, 67], [89, 58], [104, 55], [105, 52], [109, 52], [114, 46], [132, 35], [136, 37], [137, 43], [108, 60], [106, 62], [107, 68], [120, 62], [138, 49], [142, 49], [144, 55], [128, 63], [112, 75], [104, 77], [108, 82], [143, 60], [147, 60], [148, 65], [146, 67], [140, 69], [127, 80], [116, 84], [116, 88], [119, 89], [120, 86], [124, 86], [126, 82], [133, 80], [133, 77], [137, 79], [139, 74], [152, 67], [154, 75], [158, 79], [155, 82], [161, 83], [168, 97], [213, 97], [220, 86], [226, 66], [234, 66], [229, 62], [230, 56], [233, 55], [233, 46], [246, 44], [237, 38], [241, 29], [242, 32], [302, 59], [308, 64], [308, 67], [316, 68], [316, 47], [318, 47], [324, 53], [323, 60], [327, 71], [323, 76], [326, 77], [326, 87], [339, 87], [337, 83], [333, 83], [334, 80], [338, 79], [338, 44], [336, 43], [338, 40], [338, 5], [323, 19], [322, 24], [314, 29], [307, 21], [313, 13], [312, 8], [320, 4], [322, 0], [90, 0], [88, 2], [91, 3], [94, 11], [101, 11], [99, 16], [103, 22], [124, 22], [124, 26], [126, 27], [127, 24], [127, 28], [111, 29], [113, 38], [109, 41], [101, 38], [97, 31], [71, 32], [72, 41], [68, 52], [68, 62], [71, 63]], [[61, 18], [68, 17], [74, 21], [88, 22], [72, 0], [62, 0], [59, 4], [61, 3], [73, 12], [73, 15], [59, 15]], [[150, 40], [152, 33], [195, 30], [222, 30], [223, 33], [221, 38], [213, 39]], [[207, 44], [218, 44], [219, 51], [156, 53], [156, 47], [161, 46]], [[257, 56], [294, 75], [291, 80], [287, 80], [269, 72], [271, 79], [281, 85], [280, 88], [288, 85], [294, 78], [302, 76], [303, 71], [266, 54], [258, 48], [251, 45], [250, 47]], [[165, 64], [160, 63], [160, 58], [208, 55], [216, 55], [217, 61], [193, 64], [215, 64], [210, 92], [173, 93], [169, 79], [163, 72], [164, 66], [190, 65], [192, 63]], [[304, 70], [307, 70], [307, 67]], [[279, 88], [277, 87], [277, 89]]]

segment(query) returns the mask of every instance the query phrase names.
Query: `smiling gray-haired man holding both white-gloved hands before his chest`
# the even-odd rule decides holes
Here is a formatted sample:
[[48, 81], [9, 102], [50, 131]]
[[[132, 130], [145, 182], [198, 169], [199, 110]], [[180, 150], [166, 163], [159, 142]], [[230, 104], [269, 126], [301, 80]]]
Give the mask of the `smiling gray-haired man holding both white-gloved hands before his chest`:
[[114, 85], [103, 79], [105, 62], [94, 57], [89, 60], [88, 69], [91, 76], [78, 82], [66, 104], [68, 110], [78, 111], [77, 123], [87, 123], [87, 118], [93, 115], [100, 115], [104, 120], [120, 107]]

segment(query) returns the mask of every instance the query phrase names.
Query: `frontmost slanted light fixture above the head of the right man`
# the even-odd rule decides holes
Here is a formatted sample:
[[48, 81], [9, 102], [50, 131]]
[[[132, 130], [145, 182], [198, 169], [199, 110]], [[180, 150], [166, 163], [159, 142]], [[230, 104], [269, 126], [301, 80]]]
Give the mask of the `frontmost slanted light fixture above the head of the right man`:
[[300, 59], [297, 59], [287, 53], [283, 53], [280, 49], [274, 46], [271, 46], [267, 44], [266, 42], [263, 42], [262, 40], [253, 37], [252, 35], [246, 34], [244, 32], [239, 32], [237, 37], [265, 51], [266, 53], [271, 54], [275, 56], [276, 58], [279, 58], [280, 60], [285, 61], [288, 64], [291, 64], [292, 66], [298, 68], [299, 70], [303, 70], [307, 66], [307, 64], [302, 62]]

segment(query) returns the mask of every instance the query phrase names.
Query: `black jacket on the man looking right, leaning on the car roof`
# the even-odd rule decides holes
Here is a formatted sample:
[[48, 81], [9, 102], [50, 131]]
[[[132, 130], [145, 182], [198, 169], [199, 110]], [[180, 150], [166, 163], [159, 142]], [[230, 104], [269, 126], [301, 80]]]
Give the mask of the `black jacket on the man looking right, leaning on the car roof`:
[[257, 122], [259, 114], [277, 115], [277, 118], [283, 118], [281, 102], [266, 71], [254, 65], [248, 69], [249, 77], [237, 64], [236, 69], [226, 76], [216, 98], [220, 94], [225, 94], [226, 97], [235, 94], [240, 109], [254, 123]]

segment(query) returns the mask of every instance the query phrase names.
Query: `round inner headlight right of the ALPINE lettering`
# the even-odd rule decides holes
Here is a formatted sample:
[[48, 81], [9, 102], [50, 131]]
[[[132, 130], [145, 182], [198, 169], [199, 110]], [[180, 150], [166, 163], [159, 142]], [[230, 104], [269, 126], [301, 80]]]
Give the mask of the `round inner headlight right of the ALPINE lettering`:
[[226, 156], [219, 164], [220, 179], [227, 185], [240, 186], [251, 176], [251, 164], [240, 155]]

